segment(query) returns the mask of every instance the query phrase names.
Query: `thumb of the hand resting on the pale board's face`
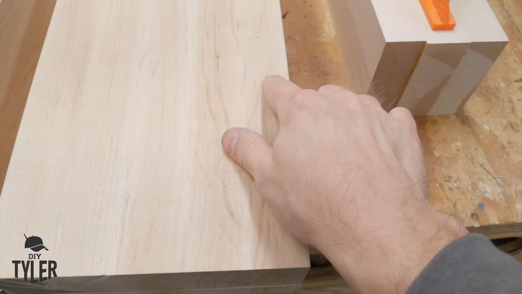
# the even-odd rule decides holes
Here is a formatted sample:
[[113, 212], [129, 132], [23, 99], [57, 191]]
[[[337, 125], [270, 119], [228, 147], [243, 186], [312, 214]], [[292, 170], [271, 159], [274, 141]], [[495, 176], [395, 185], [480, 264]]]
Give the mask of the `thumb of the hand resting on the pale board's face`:
[[260, 134], [242, 128], [226, 131], [221, 145], [227, 154], [245, 169], [254, 180], [271, 162], [272, 147]]

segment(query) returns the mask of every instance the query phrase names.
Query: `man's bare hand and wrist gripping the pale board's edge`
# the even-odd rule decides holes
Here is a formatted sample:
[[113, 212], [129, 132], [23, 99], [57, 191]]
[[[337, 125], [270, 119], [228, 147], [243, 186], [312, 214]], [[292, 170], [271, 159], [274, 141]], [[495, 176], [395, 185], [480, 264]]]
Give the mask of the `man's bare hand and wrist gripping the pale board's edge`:
[[430, 260], [467, 233], [428, 201], [410, 112], [339, 86], [263, 84], [279, 120], [274, 144], [246, 129], [222, 145], [252, 175], [272, 213], [315, 246], [356, 290], [404, 293]]

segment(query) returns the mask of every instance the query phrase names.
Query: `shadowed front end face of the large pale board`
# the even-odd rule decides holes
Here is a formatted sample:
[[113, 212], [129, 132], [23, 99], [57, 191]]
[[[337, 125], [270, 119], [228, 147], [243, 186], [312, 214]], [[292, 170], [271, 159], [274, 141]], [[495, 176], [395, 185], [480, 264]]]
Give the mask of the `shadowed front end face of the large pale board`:
[[[228, 272], [200, 272], [177, 274], [141, 274], [91, 277], [59, 277], [38, 284], [20, 279], [0, 280], [0, 289], [13, 293], [22, 292], [72, 292], [81, 293], [279, 293], [282, 290], [298, 289], [307, 273], [307, 268], [295, 270], [263, 269]], [[299, 281], [299, 283], [296, 283]], [[253, 287], [253, 285], [255, 285]], [[215, 292], [212, 292], [215, 293]], [[286, 293], [286, 292], [285, 292]]]

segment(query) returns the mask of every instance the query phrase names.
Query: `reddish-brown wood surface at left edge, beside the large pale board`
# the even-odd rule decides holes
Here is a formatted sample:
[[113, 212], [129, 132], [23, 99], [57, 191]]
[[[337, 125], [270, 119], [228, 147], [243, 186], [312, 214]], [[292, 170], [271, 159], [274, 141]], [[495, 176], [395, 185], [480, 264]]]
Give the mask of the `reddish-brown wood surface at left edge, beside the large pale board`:
[[54, 4], [0, 1], [0, 191]]

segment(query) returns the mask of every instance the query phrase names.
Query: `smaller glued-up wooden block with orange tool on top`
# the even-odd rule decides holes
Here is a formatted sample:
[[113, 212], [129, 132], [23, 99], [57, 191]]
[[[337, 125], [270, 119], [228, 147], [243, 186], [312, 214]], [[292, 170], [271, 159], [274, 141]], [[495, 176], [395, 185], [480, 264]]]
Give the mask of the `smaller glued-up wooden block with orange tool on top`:
[[[434, 31], [417, 0], [329, 0], [352, 89], [377, 96], [386, 110], [455, 113], [507, 37], [486, 0], [450, 3], [457, 26]], [[362, 61], [372, 66], [361, 66]]]

